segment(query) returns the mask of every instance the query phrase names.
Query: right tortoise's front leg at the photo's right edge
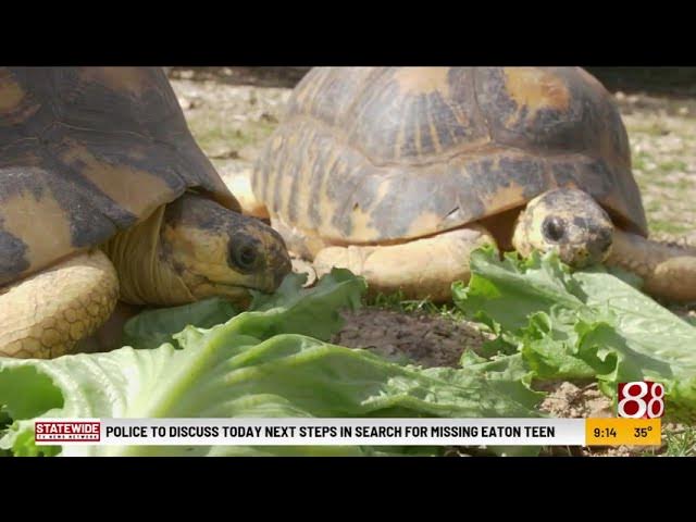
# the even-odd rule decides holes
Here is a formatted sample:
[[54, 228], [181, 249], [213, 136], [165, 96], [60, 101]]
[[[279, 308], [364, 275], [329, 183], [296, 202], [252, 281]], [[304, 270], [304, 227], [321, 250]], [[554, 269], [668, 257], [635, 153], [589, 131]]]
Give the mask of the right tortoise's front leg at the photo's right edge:
[[696, 245], [667, 244], [616, 231], [608, 264], [643, 277], [646, 293], [673, 301], [696, 301]]

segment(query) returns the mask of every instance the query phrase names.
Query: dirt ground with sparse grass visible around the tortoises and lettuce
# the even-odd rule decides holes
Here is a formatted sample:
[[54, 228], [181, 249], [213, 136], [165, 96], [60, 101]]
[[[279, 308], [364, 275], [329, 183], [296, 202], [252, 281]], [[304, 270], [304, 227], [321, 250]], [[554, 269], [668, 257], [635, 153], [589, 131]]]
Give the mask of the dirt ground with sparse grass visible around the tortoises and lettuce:
[[[304, 67], [170, 69], [191, 132], [223, 177], [249, 172], [264, 139], [283, 116], [291, 87]], [[618, 85], [622, 85], [619, 83]], [[631, 86], [630, 86], [631, 87]], [[696, 240], [696, 95], [663, 85], [651, 92], [614, 90], [632, 149], [635, 177], [654, 237]], [[674, 307], [681, 315], [696, 315]], [[423, 365], [456, 365], [463, 349], [477, 349], [485, 334], [473, 324], [422, 312], [369, 309], [347, 315], [335, 341], [373, 348]], [[611, 415], [596, 387], [557, 383], [543, 409], [558, 417]], [[593, 451], [629, 455], [631, 448]]]

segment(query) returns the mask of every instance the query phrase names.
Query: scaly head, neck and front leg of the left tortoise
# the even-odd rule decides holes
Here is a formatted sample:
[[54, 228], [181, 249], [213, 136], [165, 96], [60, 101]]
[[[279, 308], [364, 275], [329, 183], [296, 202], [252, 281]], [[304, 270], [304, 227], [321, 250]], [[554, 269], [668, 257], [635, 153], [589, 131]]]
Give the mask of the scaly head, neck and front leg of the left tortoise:
[[[189, 194], [102, 249], [0, 288], [0, 356], [44, 359], [83, 351], [119, 298], [167, 307], [225, 296], [246, 304], [249, 289], [273, 291], [290, 271], [277, 233]], [[83, 339], [86, 345], [76, 347]]]

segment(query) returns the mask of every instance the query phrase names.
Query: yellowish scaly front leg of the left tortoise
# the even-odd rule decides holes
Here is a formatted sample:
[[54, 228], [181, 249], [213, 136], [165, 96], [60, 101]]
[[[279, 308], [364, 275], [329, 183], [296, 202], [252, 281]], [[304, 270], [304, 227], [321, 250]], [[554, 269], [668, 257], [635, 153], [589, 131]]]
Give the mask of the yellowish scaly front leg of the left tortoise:
[[111, 315], [116, 272], [100, 250], [82, 253], [0, 289], [0, 357], [70, 353]]

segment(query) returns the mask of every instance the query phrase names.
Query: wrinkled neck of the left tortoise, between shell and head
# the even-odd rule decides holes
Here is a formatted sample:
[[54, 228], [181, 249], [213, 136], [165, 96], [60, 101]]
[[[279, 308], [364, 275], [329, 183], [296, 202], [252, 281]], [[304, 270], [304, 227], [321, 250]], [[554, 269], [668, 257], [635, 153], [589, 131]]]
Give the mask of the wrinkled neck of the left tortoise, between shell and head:
[[162, 251], [164, 208], [159, 207], [147, 220], [103, 246], [119, 273], [121, 299], [127, 303], [174, 306], [195, 300]]

